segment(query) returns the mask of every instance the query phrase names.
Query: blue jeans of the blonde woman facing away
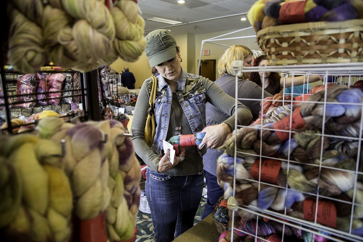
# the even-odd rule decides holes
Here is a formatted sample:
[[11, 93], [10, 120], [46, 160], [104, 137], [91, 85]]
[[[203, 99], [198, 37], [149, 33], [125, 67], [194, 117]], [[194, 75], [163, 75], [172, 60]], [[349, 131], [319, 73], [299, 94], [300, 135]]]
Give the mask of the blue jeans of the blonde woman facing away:
[[204, 170], [205, 185], [207, 185], [207, 203], [205, 204], [202, 219], [211, 214], [214, 205], [224, 194], [224, 190], [218, 185], [217, 177]]

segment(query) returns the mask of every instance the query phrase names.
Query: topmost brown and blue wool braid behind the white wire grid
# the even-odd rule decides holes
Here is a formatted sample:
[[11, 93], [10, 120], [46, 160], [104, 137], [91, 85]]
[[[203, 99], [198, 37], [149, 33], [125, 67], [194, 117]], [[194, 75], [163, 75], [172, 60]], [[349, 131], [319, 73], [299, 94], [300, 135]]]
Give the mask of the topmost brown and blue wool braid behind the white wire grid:
[[[345, 86], [332, 86], [327, 90], [327, 101], [334, 103], [326, 104], [324, 104], [324, 94], [325, 91], [321, 91], [311, 95], [308, 100], [312, 101], [313, 103], [304, 102], [298, 104], [301, 105], [299, 114], [301, 115], [304, 124], [301, 124], [298, 129], [293, 128], [293, 130], [302, 131], [311, 130], [314, 128], [321, 129], [324, 115], [324, 105], [326, 105], [325, 130], [329, 134], [340, 134], [342, 132], [342, 128], [354, 124], [360, 119], [363, 98], [363, 92], [361, 90], [355, 88], [349, 89]], [[296, 109], [294, 111], [296, 111]], [[264, 123], [262, 125], [262, 130], [260, 129], [261, 125], [257, 124], [253, 124], [248, 128], [242, 127], [240, 130], [238, 130], [237, 134], [237, 151], [251, 153], [253, 155], [260, 154], [260, 147], [262, 143], [262, 155], [270, 156], [276, 153], [281, 147], [282, 140], [274, 130], [274, 125], [275, 123]], [[286, 125], [284, 127], [288, 128]], [[262, 140], [260, 140], [261, 132]], [[288, 139], [288, 136], [286, 138]], [[221, 148], [224, 148], [227, 153], [233, 154], [233, 146], [234, 137], [226, 141], [226, 143]]]

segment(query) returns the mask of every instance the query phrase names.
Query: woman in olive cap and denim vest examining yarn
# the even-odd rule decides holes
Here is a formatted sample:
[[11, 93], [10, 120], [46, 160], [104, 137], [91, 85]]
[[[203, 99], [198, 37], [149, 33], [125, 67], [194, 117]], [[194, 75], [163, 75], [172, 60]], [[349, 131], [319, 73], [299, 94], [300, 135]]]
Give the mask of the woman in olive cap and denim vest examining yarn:
[[[180, 66], [180, 46], [169, 30], [158, 29], [146, 37], [146, 56], [150, 67], [159, 72], [155, 100], [156, 130], [151, 148], [144, 140], [146, 114], [149, 108], [151, 78], [143, 83], [135, 106], [131, 128], [135, 152], [147, 164], [145, 193], [154, 225], [155, 241], [172, 241], [193, 226], [203, 190], [203, 159], [207, 148], [223, 144], [234, 126], [248, 124], [250, 110], [226, 94], [207, 78], [189, 74]], [[205, 128], [205, 103], [211, 102], [230, 118], [219, 125]], [[204, 130], [203, 130], [204, 129]], [[205, 132], [199, 147], [186, 147], [174, 156], [163, 151], [163, 140], [177, 134]]]

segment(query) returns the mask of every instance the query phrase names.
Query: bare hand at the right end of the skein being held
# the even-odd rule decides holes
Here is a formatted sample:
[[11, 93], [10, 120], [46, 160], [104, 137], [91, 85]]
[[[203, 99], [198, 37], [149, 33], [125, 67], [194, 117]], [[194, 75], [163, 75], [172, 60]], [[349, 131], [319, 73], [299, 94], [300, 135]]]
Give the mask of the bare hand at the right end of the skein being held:
[[203, 149], [205, 144], [207, 149], [215, 149], [224, 143], [227, 135], [231, 133], [232, 130], [227, 123], [221, 123], [218, 125], [207, 126], [203, 129], [203, 132], [205, 132], [205, 136], [198, 148]]

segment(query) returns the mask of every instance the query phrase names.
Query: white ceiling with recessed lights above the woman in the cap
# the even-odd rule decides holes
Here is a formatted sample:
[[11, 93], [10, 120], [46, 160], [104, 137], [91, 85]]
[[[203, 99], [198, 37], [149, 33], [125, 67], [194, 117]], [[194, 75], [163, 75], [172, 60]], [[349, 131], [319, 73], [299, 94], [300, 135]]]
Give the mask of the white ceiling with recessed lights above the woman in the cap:
[[[255, 2], [256, 0], [186, 0], [184, 4], [179, 4], [176, 0], [138, 0], [138, 5], [145, 20], [145, 35], [154, 29], [169, 29], [173, 34], [202, 34], [251, 26], [248, 20], [240, 19], [246, 16]], [[146, 20], [151, 17], [184, 23], [173, 26]]]

